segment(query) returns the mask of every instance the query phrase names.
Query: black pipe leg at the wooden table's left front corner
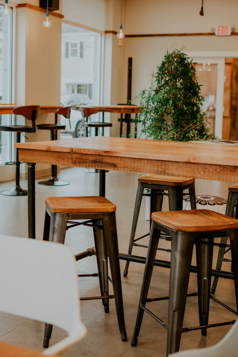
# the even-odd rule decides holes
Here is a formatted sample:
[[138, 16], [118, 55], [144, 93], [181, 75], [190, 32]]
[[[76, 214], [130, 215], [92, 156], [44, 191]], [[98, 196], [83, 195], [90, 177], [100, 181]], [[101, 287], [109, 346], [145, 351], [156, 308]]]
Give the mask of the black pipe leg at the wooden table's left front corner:
[[36, 238], [36, 214], [35, 214], [35, 165], [27, 162], [28, 182], [28, 238]]

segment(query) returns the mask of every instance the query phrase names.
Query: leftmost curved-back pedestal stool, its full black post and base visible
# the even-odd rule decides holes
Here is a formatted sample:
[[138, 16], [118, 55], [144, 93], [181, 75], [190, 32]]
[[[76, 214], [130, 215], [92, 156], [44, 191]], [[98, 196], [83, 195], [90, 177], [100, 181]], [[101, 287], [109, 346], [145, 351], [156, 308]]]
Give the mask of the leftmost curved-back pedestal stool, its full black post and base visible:
[[[22, 107], [15, 107], [13, 109], [14, 115], [22, 115], [26, 119], [31, 121], [31, 126], [27, 125], [1, 125], [0, 131], [16, 132], [16, 142], [21, 142], [21, 133], [34, 133], [36, 132], [35, 121], [39, 116], [39, 105], [26, 105]], [[12, 164], [12, 162], [6, 163]], [[14, 164], [14, 163], [13, 163]], [[1, 195], [5, 196], [27, 196], [27, 190], [23, 190], [20, 187], [20, 161], [19, 161], [19, 149], [16, 149], [16, 185], [10, 190], [1, 191]]]

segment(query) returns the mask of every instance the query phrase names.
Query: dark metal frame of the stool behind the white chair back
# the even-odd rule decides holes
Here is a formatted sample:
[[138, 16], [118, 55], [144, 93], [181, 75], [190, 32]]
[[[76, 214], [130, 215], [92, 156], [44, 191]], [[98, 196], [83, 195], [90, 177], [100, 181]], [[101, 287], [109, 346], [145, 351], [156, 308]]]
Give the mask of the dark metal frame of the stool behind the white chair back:
[[[71, 220], [88, 220], [85, 222], [74, 222]], [[67, 226], [67, 222], [70, 226]], [[100, 282], [101, 296], [81, 298], [80, 300], [102, 299], [102, 304], [106, 313], [109, 312], [109, 299], [115, 299], [117, 320], [122, 341], [127, 341], [122, 289], [121, 273], [117, 242], [116, 214], [109, 213], [53, 213], [46, 207], [45, 225], [43, 240], [64, 244], [66, 230], [78, 225], [86, 225], [93, 228], [95, 248], [90, 248], [86, 252], [76, 255], [76, 260], [93, 255], [96, 250], [98, 273], [80, 275], [98, 276]], [[111, 268], [111, 278], [108, 276], [108, 259]], [[109, 295], [108, 280], [113, 286], [114, 295]], [[49, 346], [52, 325], [45, 324], [44, 347]]]

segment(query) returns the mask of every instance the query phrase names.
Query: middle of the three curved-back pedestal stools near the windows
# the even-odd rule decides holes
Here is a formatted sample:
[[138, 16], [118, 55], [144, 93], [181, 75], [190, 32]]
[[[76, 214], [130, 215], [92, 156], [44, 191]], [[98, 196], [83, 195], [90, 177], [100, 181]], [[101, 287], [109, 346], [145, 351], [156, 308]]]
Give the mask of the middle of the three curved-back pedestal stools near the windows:
[[[70, 123], [70, 111], [71, 107], [63, 107], [57, 109], [55, 113], [55, 123], [54, 124], [39, 124], [36, 125], [36, 129], [38, 130], [50, 130], [50, 140], [57, 140], [57, 130], [65, 130], [65, 125], [61, 125], [57, 123], [57, 116], [63, 115], [66, 119], [69, 119]], [[71, 127], [71, 125], [70, 125]], [[69, 182], [61, 181], [57, 178], [57, 166], [51, 165], [51, 178], [49, 180], [38, 182], [40, 185], [46, 186], [65, 186], [69, 185]]]

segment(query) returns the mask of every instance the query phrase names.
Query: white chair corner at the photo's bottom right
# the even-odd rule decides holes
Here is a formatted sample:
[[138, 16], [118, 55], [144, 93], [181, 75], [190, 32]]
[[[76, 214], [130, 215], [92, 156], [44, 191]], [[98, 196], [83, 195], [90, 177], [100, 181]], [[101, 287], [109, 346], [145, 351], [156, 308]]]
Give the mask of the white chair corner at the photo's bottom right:
[[212, 347], [173, 353], [173, 357], [237, 357], [238, 355], [238, 320], [223, 339]]

